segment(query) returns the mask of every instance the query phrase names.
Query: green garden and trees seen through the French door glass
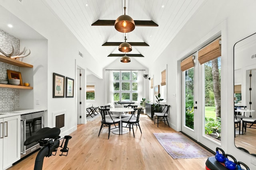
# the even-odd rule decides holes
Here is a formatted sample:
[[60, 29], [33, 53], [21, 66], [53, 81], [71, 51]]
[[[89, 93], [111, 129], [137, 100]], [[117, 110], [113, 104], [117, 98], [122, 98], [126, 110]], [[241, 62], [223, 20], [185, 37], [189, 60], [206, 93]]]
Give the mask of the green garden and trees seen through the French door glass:
[[[220, 57], [204, 64], [205, 134], [221, 136]], [[194, 129], [194, 68], [186, 70], [186, 126]], [[238, 99], [239, 95], [237, 96]], [[239, 101], [239, 100], [238, 100]]]

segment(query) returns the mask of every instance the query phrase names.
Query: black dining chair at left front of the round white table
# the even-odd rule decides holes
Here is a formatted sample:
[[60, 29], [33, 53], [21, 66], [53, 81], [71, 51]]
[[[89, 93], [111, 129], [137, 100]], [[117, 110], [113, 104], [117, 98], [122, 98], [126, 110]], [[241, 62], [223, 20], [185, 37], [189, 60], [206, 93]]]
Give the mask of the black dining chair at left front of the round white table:
[[[116, 117], [112, 117], [111, 114], [110, 114], [109, 117], [106, 117], [106, 115], [109, 115], [108, 114], [109, 109], [101, 109], [101, 108], [99, 108], [99, 111], [100, 111], [100, 115], [101, 115], [100, 131], [101, 131], [102, 127], [108, 127], [108, 139], [109, 139], [111, 125], [116, 125], [118, 123], [118, 127], [120, 127], [120, 119], [116, 118]], [[116, 129], [118, 127], [115, 126], [115, 128], [112, 128], [112, 129]], [[119, 135], [120, 135], [120, 129], [121, 128], [119, 128]], [[100, 136], [100, 132], [99, 132], [98, 136]]]

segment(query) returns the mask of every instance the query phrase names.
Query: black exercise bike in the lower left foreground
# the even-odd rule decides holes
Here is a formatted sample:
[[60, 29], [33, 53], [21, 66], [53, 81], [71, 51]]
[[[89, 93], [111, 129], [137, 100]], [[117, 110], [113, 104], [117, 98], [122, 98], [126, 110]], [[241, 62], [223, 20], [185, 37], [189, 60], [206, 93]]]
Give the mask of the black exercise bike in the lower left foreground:
[[[68, 141], [71, 139], [71, 136], [64, 136], [64, 139], [62, 141], [62, 144], [60, 145], [60, 128], [54, 127], [54, 128], [49, 128], [49, 127], [44, 127], [40, 129], [39, 131], [36, 132], [35, 135], [29, 137], [26, 139], [24, 142], [24, 145], [29, 145], [33, 142], [38, 142], [39, 145], [41, 146], [40, 151], [38, 152], [35, 160], [35, 165], [34, 165], [34, 170], [42, 170], [43, 168], [43, 162], [44, 162], [44, 157], [50, 157], [52, 155], [56, 155], [58, 147], [61, 147], [60, 151], [62, 152], [60, 156], [68, 155]], [[64, 143], [65, 141], [65, 143]], [[64, 146], [63, 146], [64, 143]], [[63, 146], [63, 147], [62, 147]], [[55, 152], [55, 153], [53, 153]], [[63, 154], [66, 153], [66, 154]]]

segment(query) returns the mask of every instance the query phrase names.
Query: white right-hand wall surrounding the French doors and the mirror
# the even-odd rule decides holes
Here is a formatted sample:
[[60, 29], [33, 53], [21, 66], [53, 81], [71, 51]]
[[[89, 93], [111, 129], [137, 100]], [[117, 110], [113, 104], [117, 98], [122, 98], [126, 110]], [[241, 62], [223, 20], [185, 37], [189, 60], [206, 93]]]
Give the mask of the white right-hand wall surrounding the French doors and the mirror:
[[[207, 39], [221, 31], [222, 33], [222, 149], [237, 160], [246, 163], [251, 169], [251, 156], [234, 146], [234, 94], [233, 94], [233, 46], [256, 31], [254, 22], [256, 1], [215, 0], [205, 1], [200, 10], [188, 21], [173, 41], [150, 68], [155, 83], [160, 83], [160, 68], [156, 65], [168, 64], [168, 104], [172, 127], [180, 130], [180, 67], [179, 60], [188, 56]], [[170, 57], [171, 56], [171, 57]], [[152, 68], [152, 69], [151, 69]], [[173, 83], [176, 81], [176, 83]], [[173, 94], [177, 97], [172, 97]], [[178, 106], [178, 107], [177, 107]], [[214, 150], [214, 149], [213, 149]]]

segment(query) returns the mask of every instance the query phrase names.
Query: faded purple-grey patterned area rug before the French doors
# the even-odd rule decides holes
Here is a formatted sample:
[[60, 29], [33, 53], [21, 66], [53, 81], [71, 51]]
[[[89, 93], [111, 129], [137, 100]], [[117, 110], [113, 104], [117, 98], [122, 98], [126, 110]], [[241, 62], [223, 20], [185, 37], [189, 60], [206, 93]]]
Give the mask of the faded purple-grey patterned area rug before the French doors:
[[166, 152], [174, 159], [214, 156], [182, 133], [154, 133], [154, 135]]

